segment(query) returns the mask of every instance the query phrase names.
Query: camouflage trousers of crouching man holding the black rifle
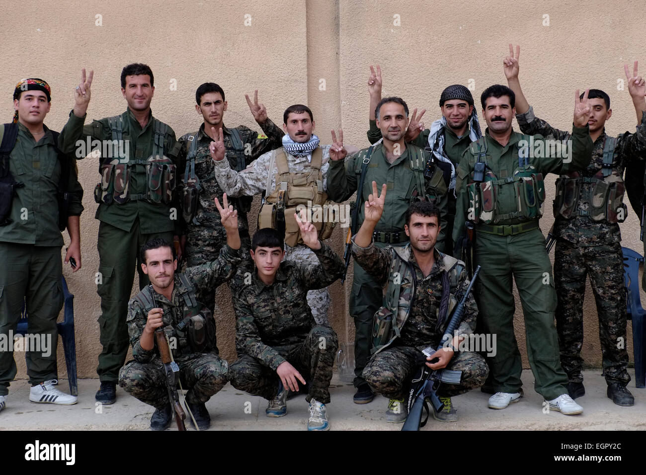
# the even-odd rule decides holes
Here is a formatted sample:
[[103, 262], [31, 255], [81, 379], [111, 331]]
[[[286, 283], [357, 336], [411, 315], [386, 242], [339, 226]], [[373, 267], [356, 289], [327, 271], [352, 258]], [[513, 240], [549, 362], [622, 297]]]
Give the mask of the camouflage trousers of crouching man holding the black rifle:
[[[415, 363], [422, 357], [424, 355], [417, 348], [390, 346], [373, 355], [364, 368], [363, 376], [375, 393], [401, 400], [408, 392], [410, 379], [417, 372]], [[457, 396], [479, 388], [489, 374], [485, 359], [475, 352], [457, 352], [446, 369], [461, 371], [462, 381], [459, 385], [443, 383], [437, 391], [441, 397]]]

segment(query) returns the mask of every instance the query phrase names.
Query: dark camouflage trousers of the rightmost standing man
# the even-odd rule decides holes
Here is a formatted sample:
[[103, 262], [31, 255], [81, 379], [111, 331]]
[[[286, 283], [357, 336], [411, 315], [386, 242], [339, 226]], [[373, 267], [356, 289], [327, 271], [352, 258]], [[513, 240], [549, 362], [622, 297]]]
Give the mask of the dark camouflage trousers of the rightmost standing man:
[[590, 275], [599, 315], [599, 341], [603, 374], [608, 383], [627, 384], [630, 375], [626, 342], [626, 291], [623, 283], [621, 244], [576, 246], [564, 239], [556, 242], [554, 282], [558, 295], [556, 328], [561, 366], [568, 380], [583, 381], [583, 297]]

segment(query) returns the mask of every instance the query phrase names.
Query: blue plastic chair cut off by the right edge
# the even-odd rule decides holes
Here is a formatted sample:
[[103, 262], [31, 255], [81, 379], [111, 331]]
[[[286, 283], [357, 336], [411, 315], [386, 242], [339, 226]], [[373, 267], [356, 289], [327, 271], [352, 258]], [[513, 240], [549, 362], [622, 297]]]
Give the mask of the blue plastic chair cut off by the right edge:
[[646, 386], [644, 373], [644, 314], [640, 299], [640, 263], [644, 262], [641, 254], [629, 248], [621, 248], [623, 252], [623, 280], [626, 286], [627, 318], [632, 320], [632, 346], [635, 359], [635, 386]]

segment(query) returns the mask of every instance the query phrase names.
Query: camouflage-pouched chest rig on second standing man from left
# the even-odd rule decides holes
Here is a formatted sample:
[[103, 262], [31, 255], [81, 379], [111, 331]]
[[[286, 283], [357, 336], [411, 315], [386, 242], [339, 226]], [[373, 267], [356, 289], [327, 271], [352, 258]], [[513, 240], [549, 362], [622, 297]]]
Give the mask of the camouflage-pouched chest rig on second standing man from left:
[[[165, 123], [153, 118], [154, 145], [152, 155], [140, 158], [136, 153], [129, 156], [101, 156], [99, 173], [101, 182], [94, 188], [94, 200], [101, 204], [124, 204], [130, 200], [149, 200], [154, 203], [170, 203], [175, 189], [176, 167], [170, 158], [164, 156], [163, 140], [168, 130]], [[112, 130], [112, 149], [123, 143], [123, 118], [114, 116], [108, 118]], [[129, 150], [129, 148], [128, 148]], [[135, 155], [134, 157], [132, 155]], [[146, 167], [146, 191], [130, 193], [130, 173], [132, 167]]]

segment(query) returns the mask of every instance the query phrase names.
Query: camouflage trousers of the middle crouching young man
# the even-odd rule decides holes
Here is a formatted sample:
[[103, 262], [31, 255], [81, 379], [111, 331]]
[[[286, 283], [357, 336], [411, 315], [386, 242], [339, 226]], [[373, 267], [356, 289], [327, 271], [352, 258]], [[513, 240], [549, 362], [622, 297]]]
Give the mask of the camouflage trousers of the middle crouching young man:
[[[329, 383], [332, 380], [332, 367], [337, 355], [339, 341], [337, 333], [329, 326], [315, 326], [303, 343], [287, 346], [274, 346], [282, 357], [309, 383], [307, 402], [316, 399], [328, 404]], [[242, 355], [231, 364], [229, 370], [231, 386], [248, 392], [253, 396], [262, 396], [267, 400], [276, 397], [280, 377], [258, 358]]]

